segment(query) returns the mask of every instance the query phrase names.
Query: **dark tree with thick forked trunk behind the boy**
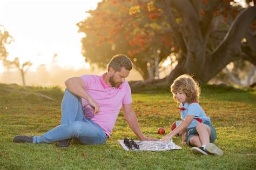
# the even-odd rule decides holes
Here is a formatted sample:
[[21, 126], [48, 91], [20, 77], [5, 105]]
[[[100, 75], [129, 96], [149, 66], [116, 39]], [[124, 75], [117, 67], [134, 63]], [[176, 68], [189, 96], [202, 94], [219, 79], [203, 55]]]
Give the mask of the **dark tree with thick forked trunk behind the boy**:
[[[230, 1], [226, 0], [158, 1], [179, 46], [178, 64], [166, 77], [167, 83], [172, 83], [176, 77], [184, 73], [193, 74], [198, 81], [206, 83], [227, 64], [239, 58], [256, 65], [256, 39], [253, 36], [255, 30], [251, 28], [251, 25], [255, 24], [255, 6], [241, 10], [225, 38], [213, 51], [207, 53], [214, 13], [221, 5], [229, 3]], [[174, 14], [181, 18], [180, 23], [176, 22]], [[183, 29], [180, 30], [180, 27]], [[247, 39], [246, 47], [245, 44], [241, 44], [243, 38]]]

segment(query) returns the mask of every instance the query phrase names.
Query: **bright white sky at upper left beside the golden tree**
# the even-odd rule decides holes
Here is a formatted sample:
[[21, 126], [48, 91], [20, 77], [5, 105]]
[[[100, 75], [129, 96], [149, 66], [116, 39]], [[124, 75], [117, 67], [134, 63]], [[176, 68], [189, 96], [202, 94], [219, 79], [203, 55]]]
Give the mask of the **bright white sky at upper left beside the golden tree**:
[[[0, 25], [14, 37], [15, 42], [6, 45], [8, 59], [15, 57], [21, 63], [31, 61], [30, 71], [40, 64], [49, 64], [55, 53], [58, 65], [73, 69], [89, 68], [80, 53], [80, 39], [76, 24], [85, 19], [85, 12], [95, 9], [100, 0], [39, 1], [2, 0]], [[4, 67], [0, 64], [0, 72]]]

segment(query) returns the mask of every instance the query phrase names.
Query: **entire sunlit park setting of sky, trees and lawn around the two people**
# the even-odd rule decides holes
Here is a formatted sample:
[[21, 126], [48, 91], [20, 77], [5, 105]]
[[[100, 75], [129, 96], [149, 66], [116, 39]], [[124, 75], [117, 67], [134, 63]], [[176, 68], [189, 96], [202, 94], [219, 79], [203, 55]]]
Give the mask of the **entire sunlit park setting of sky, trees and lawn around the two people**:
[[[0, 2], [0, 169], [255, 169], [255, 1], [103, 0]], [[64, 81], [102, 74], [117, 53], [132, 59], [127, 78], [144, 134], [160, 139], [180, 119], [170, 84], [191, 74], [200, 105], [218, 132], [223, 157], [126, 152], [136, 139], [121, 111], [99, 146], [14, 144], [17, 134], [57, 126]], [[180, 137], [174, 137], [179, 145]], [[100, 163], [99, 163], [100, 162]], [[185, 162], [185, 163], [184, 163]]]

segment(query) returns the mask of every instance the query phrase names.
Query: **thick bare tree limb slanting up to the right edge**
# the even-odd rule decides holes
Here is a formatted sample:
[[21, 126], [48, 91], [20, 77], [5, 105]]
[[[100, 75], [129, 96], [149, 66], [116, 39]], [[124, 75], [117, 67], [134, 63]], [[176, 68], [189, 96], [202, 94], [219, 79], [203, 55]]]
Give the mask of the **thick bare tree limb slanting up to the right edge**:
[[[241, 40], [245, 37], [254, 18], [256, 18], [256, 6], [242, 10], [237, 18], [235, 18], [226, 37], [220, 45], [217, 46], [209, 56], [207, 56], [204, 82], [207, 82], [210, 78], [214, 77], [228, 63], [241, 57]], [[215, 66], [214, 70], [211, 65]]]

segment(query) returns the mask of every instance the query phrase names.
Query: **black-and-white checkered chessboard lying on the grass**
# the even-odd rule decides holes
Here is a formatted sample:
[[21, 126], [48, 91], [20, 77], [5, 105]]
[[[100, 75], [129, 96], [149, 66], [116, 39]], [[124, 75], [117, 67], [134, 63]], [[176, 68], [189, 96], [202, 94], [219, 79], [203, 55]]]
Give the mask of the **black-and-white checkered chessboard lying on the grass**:
[[174, 149], [181, 149], [180, 146], [173, 143], [172, 147], [167, 147], [165, 144], [160, 141], [142, 141], [142, 140], [134, 140], [137, 145], [139, 145], [139, 149], [129, 149], [124, 144], [124, 140], [118, 140], [119, 144], [123, 146], [126, 151], [170, 151]]

